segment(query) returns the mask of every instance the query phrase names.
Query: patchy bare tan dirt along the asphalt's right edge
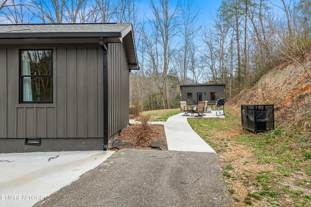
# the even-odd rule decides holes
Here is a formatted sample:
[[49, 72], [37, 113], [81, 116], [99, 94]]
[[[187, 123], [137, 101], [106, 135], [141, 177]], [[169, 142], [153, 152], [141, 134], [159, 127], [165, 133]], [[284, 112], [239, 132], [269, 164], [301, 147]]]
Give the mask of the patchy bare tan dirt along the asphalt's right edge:
[[[224, 170], [223, 175], [225, 183], [227, 183], [228, 195], [232, 198], [229, 207], [247, 207], [249, 205], [246, 201], [251, 201], [252, 206], [268, 206], [268, 196], [260, 195], [258, 199], [252, 197], [265, 192], [263, 184], [276, 193], [283, 193], [282, 196], [276, 198], [276, 202], [280, 206], [293, 206], [293, 201], [290, 199], [292, 195], [282, 191], [282, 187], [289, 187], [291, 191], [297, 192], [303, 190], [305, 194], [310, 195], [310, 176], [302, 171], [292, 171], [288, 175], [283, 175], [279, 170], [279, 168], [283, 168], [283, 164], [260, 161], [259, 156], [254, 153], [256, 152], [254, 148], [241, 144], [239, 138], [236, 138], [250, 132], [232, 128], [221, 132], [215, 129], [210, 133], [214, 134], [212, 143], [217, 146], [217, 158]], [[254, 139], [257, 138], [254, 137]], [[268, 149], [263, 147], [262, 153], [265, 151]], [[308, 160], [305, 165], [307, 162]], [[300, 167], [304, 168], [303, 163]], [[268, 177], [273, 180], [265, 180]]]

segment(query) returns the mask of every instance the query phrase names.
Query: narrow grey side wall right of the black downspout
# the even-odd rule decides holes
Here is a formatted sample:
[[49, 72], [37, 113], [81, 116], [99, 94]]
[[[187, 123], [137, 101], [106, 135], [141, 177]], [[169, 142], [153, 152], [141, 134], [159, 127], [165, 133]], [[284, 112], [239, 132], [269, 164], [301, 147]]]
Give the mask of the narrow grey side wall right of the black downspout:
[[108, 44], [109, 137], [126, 127], [129, 120], [129, 66], [123, 44]]

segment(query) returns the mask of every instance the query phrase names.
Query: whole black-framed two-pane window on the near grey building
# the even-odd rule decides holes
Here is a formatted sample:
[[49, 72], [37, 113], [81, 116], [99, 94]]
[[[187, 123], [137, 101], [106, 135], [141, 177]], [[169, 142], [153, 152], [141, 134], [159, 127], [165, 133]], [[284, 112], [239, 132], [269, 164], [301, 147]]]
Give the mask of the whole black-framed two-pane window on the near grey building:
[[52, 103], [52, 50], [20, 50], [19, 100]]

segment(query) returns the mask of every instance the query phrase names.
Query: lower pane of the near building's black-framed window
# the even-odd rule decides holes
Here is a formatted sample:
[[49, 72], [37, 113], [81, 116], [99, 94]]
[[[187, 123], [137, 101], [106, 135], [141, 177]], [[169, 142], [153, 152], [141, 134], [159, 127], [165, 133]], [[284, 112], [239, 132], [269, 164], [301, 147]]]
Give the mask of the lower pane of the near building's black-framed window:
[[52, 101], [52, 77], [22, 77], [23, 101]]

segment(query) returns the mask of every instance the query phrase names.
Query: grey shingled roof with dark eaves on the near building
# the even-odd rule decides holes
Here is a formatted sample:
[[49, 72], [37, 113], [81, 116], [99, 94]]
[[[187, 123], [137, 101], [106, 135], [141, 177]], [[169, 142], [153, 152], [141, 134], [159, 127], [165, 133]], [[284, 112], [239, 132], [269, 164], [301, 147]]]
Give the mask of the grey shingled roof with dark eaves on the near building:
[[10, 39], [99, 37], [106, 38], [108, 42], [124, 43], [131, 69], [138, 69], [133, 28], [130, 23], [0, 25], [0, 44], [8, 44]]

